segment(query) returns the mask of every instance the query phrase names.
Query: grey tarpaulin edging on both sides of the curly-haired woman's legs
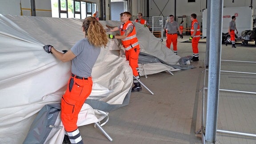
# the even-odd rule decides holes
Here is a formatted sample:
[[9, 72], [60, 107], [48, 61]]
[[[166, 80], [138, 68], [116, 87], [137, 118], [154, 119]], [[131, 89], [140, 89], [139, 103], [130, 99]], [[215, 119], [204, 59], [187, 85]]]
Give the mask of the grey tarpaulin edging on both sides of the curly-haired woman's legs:
[[[104, 101], [90, 99], [87, 99], [84, 103], [89, 104], [93, 109], [111, 112], [128, 105], [130, 96], [131, 89], [126, 94], [123, 104], [108, 104]], [[43, 144], [52, 130], [52, 128], [49, 128], [49, 125], [55, 124], [60, 109], [60, 103], [45, 105], [39, 111], [35, 120], [31, 124], [28, 135], [26, 136], [23, 144]]]

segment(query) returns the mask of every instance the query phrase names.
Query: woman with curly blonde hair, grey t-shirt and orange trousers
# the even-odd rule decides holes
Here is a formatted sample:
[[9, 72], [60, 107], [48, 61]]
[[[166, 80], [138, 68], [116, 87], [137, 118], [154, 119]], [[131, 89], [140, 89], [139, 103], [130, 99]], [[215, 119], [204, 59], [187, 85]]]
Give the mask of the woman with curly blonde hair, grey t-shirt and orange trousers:
[[108, 43], [107, 33], [96, 18], [86, 17], [82, 29], [84, 38], [65, 53], [51, 45], [44, 46], [44, 50], [57, 59], [63, 62], [72, 60], [72, 74], [61, 99], [61, 121], [67, 133], [64, 140], [70, 140], [72, 144], [83, 144], [76, 122], [84, 101], [92, 92], [92, 67], [100, 54], [100, 48]]

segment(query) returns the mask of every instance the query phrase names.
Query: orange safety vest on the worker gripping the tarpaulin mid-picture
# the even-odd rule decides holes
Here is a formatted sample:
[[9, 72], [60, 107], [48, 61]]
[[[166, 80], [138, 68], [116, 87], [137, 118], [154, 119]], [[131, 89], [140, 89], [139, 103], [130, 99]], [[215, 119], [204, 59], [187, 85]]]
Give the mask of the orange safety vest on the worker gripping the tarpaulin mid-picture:
[[121, 36], [124, 35], [124, 33], [126, 32], [127, 28], [132, 25], [133, 26], [133, 30], [132, 32], [125, 38], [122, 40], [122, 44], [124, 46], [124, 49], [126, 51], [128, 51], [129, 49], [132, 49], [133, 47], [135, 47], [136, 45], [138, 45], [138, 39], [136, 37], [136, 29], [134, 24], [132, 24], [132, 22], [130, 20], [128, 20], [126, 23], [122, 24], [120, 26], [120, 34]]

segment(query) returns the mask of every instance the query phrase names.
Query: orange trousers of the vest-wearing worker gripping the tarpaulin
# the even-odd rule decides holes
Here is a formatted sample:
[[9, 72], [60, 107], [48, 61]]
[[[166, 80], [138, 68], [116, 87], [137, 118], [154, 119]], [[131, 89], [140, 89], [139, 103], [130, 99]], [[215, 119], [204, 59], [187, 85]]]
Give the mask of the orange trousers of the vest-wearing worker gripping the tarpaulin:
[[132, 68], [132, 74], [133, 76], [139, 76], [139, 73], [136, 68], [138, 68], [138, 59], [139, 59], [139, 53], [140, 53], [140, 45], [136, 45], [132, 49], [129, 49], [128, 51], [125, 51], [126, 60], [129, 61], [129, 65]]

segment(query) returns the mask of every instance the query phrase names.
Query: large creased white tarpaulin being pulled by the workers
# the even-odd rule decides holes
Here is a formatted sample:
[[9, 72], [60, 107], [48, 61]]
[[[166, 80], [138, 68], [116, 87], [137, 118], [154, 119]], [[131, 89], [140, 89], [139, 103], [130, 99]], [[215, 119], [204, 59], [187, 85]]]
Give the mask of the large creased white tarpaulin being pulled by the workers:
[[[112, 26], [120, 24], [100, 22]], [[84, 37], [81, 25], [81, 20], [77, 19], [0, 14], [0, 144], [22, 143], [37, 112], [46, 104], [60, 103], [71, 63], [57, 60], [44, 52], [43, 46], [51, 44], [60, 51], [69, 50]], [[147, 28], [135, 25], [141, 52], [158, 57], [168, 65], [178, 64], [179, 56]], [[109, 40], [108, 46], [102, 48], [92, 69], [93, 89], [89, 99], [123, 103], [132, 86], [132, 69], [125, 57], [115, 51], [119, 47], [120, 40]], [[89, 105], [85, 107], [90, 109]], [[94, 115], [91, 112], [80, 117], [83, 120], [86, 117], [86, 124], [89, 124], [99, 121]], [[62, 129], [56, 135], [63, 136], [63, 132]]]

